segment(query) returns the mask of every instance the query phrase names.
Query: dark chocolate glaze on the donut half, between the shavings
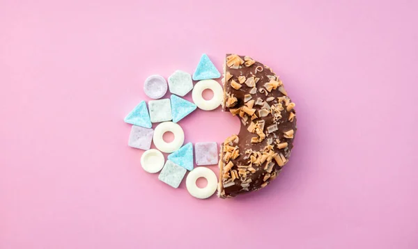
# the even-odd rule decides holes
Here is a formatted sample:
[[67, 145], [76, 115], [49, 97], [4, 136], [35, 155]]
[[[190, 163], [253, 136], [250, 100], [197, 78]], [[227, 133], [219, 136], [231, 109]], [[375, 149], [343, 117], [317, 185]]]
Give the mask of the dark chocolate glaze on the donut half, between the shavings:
[[[230, 56], [230, 54], [227, 54], [226, 56]], [[245, 56], [240, 56], [240, 58], [242, 58], [242, 60], [244, 60]], [[272, 104], [277, 104], [278, 100], [277, 97], [284, 97], [285, 95], [283, 93], [281, 93], [279, 90], [272, 90], [270, 93], [268, 93], [268, 95], [265, 95], [265, 92], [260, 93], [259, 88], [264, 88], [264, 84], [268, 83], [270, 81], [270, 78], [268, 76], [274, 76], [276, 77], [276, 74], [274, 74], [274, 72], [272, 72], [272, 70], [270, 69], [270, 67], [267, 67], [265, 65], [263, 65], [262, 63], [259, 63], [258, 61], [256, 61], [253, 65], [250, 65], [249, 67], [246, 67], [245, 64], [242, 64], [241, 67], [239, 69], [233, 69], [233, 68], [229, 68], [227, 65], [225, 65], [226, 67], [226, 72], [229, 72], [232, 77], [231, 79], [229, 79], [229, 81], [226, 82], [226, 79], [224, 79], [224, 95], [226, 96], [226, 94], [229, 95], [233, 95], [234, 97], [236, 97], [238, 99], [237, 104], [235, 104], [234, 106], [231, 107], [231, 109], [237, 109], [240, 108], [241, 106], [243, 106], [245, 104], [244, 102], [244, 97], [245, 95], [248, 95], [251, 87], [247, 86], [245, 83], [242, 83], [242, 87], [238, 90], [236, 90], [235, 88], [231, 87], [231, 81], [235, 80], [236, 82], [238, 82], [238, 77], [240, 76], [245, 76], [246, 79], [248, 79], [249, 77], [258, 77], [259, 81], [256, 83], [256, 88], [257, 88], [257, 92], [255, 94], [251, 95], [251, 99], [256, 100], [258, 97], [260, 97], [261, 99], [263, 99], [263, 101], [265, 102], [266, 99], [268, 99], [268, 97], [274, 97], [274, 99], [271, 102], [268, 102], [268, 104], [271, 106]], [[256, 70], [256, 68], [263, 68], [262, 72], [258, 72]], [[227, 97], [226, 97], [227, 98]], [[226, 101], [226, 99], [225, 99]], [[240, 132], [238, 134], [238, 148], [240, 150], [240, 156], [238, 156], [238, 158], [236, 159], [231, 159], [230, 161], [233, 162], [234, 166], [232, 169], [236, 169], [237, 166], [246, 166], [249, 164], [249, 159], [245, 159], [245, 151], [248, 149], [251, 149], [253, 151], [262, 151], [263, 148], [265, 148], [266, 145], [268, 145], [268, 140], [269, 138], [272, 140], [274, 140], [274, 143], [272, 143], [272, 145], [274, 145], [274, 152], [277, 153], [281, 153], [283, 154], [286, 159], [289, 158], [290, 154], [291, 154], [291, 149], [293, 148], [293, 139], [295, 137], [295, 134], [293, 135], [293, 138], [285, 138], [284, 137], [284, 132], [293, 129], [293, 131], [296, 133], [296, 117], [293, 118], [293, 122], [288, 121], [289, 115], [291, 112], [295, 113], [295, 110], [292, 109], [291, 111], [286, 111], [286, 106], [283, 103], [283, 107], [284, 110], [281, 111], [281, 118], [279, 120], [274, 121], [272, 115], [268, 115], [264, 118], [256, 118], [255, 120], [253, 120], [253, 122], [256, 122], [257, 120], [264, 120], [265, 121], [265, 125], [264, 125], [264, 132], [266, 134], [265, 139], [263, 141], [261, 141], [260, 143], [251, 143], [251, 138], [253, 138], [254, 136], [256, 136], [256, 134], [251, 133], [247, 130], [247, 127], [249, 124], [243, 124], [242, 123], [242, 118], [240, 118], [240, 116], [238, 115], [238, 117], [241, 119], [241, 127], [240, 127]], [[224, 105], [224, 111], [228, 111], [229, 112], [228, 107], [226, 107], [226, 105]], [[258, 115], [258, 110], [262, 109], [262, 106], [256, 106], [254, 105], [253, 109], [256, 109], [256, 113]], [[249, 123], [251, 122], [250, 118], [248, 118], [247, 120]], [[272, 124], [277, 124], [277, 131], [274, 131], [272, 133], [267, 133], [267, 127], [269, 127]], [[275, 140], [279, 139], [280, 143], [288, 143], [288, 147], [284, 148], [284, 149], [279, 149], [276, 146]], [[223, 147], [224, 144], [222, 144]], [[223, 159], [223, 154], [221, 154], [221, 158], [220, 158], [220, 162], [219, 165], [225, 165], [226, 162]], [[274, 160], [274, 168], [272, 170], [272, 172], [276, 172], [279, 173], [281, 168]], [[253, 168], [256, 168], [256, 166], [252, 166]], [[228, 198], [228, 197], [233, 197], [235, 195], [238, 195], [240, 193], [247, 193], [247, 192], [251, 192], [251, 191], [255, 191], [259, 188], [262, 188], [262, 184], [264, 183], [263, 181], [263, 177], [265, 176], [265, 174], [267, 173], [265, 170], [263, 170], [263, 165], [262, 166], [258, 166], [258, 168], [256, 168], [256, 172], [249, 174], [248, 177], [251, 178], [251, 183], [250, 186], [247, 188], [242, 188], [242, 186], [240, 185], [241, 180], [240, 179], [235, 179], [234, 180], [234, 185], [233, 186], [229, 186], [226, 188], [220, 188], [219, 191], [222, 191], [222, 189], [224, 190], [224, 193], [218, 193], [219, 197], [221, 198]], [[221, 170], [222, 172], [222, 170]], [[222, 176], [220, 177], [219, 181], [222, 182]]]

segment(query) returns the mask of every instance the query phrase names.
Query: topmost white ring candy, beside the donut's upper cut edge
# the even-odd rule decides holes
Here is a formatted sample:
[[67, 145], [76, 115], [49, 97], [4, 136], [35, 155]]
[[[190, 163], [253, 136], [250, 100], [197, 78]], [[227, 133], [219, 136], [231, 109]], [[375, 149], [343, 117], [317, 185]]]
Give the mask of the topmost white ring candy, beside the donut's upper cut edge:
[[[212, 99], [206, 100], [203, 99], [202, 93], [203, 90], [210, 89], [213, 91]], [[205, 111], [211, 111], [217, 109], [217, 107], [222, 103], [222, 98], [224, 96], [224, 90], [222, 86], [214, 81], [213, 79], [205, 79], [203, 81], [199, 81], [194, 85], [193, 92], [192, 92], [192, 99], [194, 104], [196, 104], [199, 109]]]

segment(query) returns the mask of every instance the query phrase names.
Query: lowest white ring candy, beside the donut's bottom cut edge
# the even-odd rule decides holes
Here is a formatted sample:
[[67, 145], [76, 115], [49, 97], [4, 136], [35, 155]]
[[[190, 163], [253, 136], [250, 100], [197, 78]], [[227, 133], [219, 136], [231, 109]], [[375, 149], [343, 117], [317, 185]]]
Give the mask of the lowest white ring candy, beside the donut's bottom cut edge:
[[[199, 188], [196, 185], [196, 180], [199, 177], [204, 177], [208, 181], [208, 185], [204, 188]], [[217, 178], [215, 173], [206, 167], [197, 167], [189, 172], [186, 179], [186, 188], [190, 195], [199, 199], [210, 198], [217, 189]]]

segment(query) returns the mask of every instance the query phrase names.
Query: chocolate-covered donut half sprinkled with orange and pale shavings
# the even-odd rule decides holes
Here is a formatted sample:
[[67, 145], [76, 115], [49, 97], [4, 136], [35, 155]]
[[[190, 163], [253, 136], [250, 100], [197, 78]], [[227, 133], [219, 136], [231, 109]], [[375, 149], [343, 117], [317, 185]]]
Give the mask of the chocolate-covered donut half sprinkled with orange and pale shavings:
[[240, 133], [224, 140], [218, 196], [264, 188], [288, 162], [296, 133], [295, 103], [279, 77], [249, 56], [227, 54], [224, 111], [238, 115]]

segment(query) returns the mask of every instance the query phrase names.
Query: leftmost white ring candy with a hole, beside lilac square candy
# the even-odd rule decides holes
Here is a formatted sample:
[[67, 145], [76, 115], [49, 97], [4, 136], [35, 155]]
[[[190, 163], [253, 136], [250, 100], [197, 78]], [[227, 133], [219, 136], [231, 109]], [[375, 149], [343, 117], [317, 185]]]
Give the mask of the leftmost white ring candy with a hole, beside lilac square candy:
[[[167, 143], [162, 138], [167, 131], [171, 131], [174, 134], [174, 140], [170, 143]], [[162, 122], [155, 127], [153, 141], [158, 150], [165, 153], [171, 153], [180, 149], [181, 145], [183, 145], [185, 133], [180, 125], [174, 122]]]

